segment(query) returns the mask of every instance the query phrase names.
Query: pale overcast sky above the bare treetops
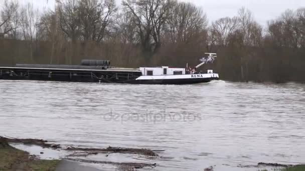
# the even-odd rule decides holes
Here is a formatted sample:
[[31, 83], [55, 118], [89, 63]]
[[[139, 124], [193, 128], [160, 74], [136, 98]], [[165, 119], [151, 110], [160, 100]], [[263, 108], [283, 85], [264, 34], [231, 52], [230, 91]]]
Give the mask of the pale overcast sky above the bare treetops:
[[[0, 0], [3, 3], [4, 0]], [[55, 0], [18, 0], [20, 3], [33, 2], [40, 9], [54, 7]], [[47, 2], [48, 1], [48, 2]], [[116, 0], [120, 5], [121, 0]], [[183, 0], [201, 6], [208, 15], [209, 21], [225, 16], [234, 16], [242, 6], [250, 9], [262, 25], [267, 20], [274, 19], [286, 9], [305, 7], [305, 0]]]

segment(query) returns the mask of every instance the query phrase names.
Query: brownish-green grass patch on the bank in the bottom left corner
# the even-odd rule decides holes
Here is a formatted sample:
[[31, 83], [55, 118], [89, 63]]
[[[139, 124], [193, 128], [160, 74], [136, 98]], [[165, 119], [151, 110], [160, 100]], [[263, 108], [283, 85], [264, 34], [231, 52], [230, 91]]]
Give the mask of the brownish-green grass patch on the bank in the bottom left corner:
[[[1, 143], [1, 142], [0, 142]], [[0, 144], [0, 170], [54, 171], [60, 160], [40, 160], [30, 157], [26, 151]]]

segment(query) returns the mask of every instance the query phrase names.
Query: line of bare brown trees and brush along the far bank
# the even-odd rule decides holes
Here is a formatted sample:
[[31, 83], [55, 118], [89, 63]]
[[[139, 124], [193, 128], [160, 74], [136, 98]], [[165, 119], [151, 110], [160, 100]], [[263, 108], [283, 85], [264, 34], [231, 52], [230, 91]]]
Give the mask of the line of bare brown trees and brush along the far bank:
[[[210, 24], [201, 7], [177, 0], [62, 0], [54, 10], [5, 0], [0, 63], [195, 66], [217, 52], [222, 79], [305, 82], [305, 8], [286, 10], [263, 29], [245, 8]], [[202, 68], [205, 69], [205, 68]]]

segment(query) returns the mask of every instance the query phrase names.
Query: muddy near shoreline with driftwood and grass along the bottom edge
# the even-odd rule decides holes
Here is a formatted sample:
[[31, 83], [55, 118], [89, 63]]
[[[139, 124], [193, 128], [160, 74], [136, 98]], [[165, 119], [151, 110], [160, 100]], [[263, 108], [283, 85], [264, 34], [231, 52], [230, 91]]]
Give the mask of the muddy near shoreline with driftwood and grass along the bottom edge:
[[[51, 148], [60, 151], [69, 151], [69, 154], [60, 159], [54, 160], [42, 160], [39, 156], [30, 155], [28, 151], [22, 151], [10, 145], [10, 143], [23, 143], [25, 145], [37, 145], [42, 148]], [[61, 171], [61, 170], [92, 170], [98, 171], [100, 169], [84, 166], [80, 163], [93, 163], [93, 164], [108, 164], [116, 167], [117, 170], [137, 170], [139, 168], [154, 168], [157, 167], [157, 163], [138, 163], [138, 162], [116, 162], [116, 161], [103, 161], [94, 160], [87, 158], [92, 155], [105, 155], [107, 157], [109, 154], [117, 153], [121, 154], [136, 154], [141, 155], [149, 159], [157, 159], [162, 157], [158, 152], [164, 150], [151, 150], [146, 148], [123, 148], [123, 147], [107, 147], [107, 148], [82, 148], [67, 146], [62, 147], [60, 144], [49, 143], [44, 139], [19, 139], [13, 137], [3, 137], [0, 136], [0, 159], [4, 160], [4, 156], [9, 157], [7, 164], [2, 163], [0, 160], [0, 170], [50, 170], [50, 171]], [[42, 152], [43, 153], [43, 152]], [[1, 158], [2, 157], [2, 158]], [[240, 168], [259, 168], [261, 166], [272, 167], [272, 170], [278, 171], [303, 171], [305, 170], [305, 165], [292, 165], [292, 164], [281, 164], [281, 163], [265, 163], [259, 162], [257, 165], [237, 165]], [[34, 169], [33, 169], [34, 168]], [[42, 169], [43, 168], [43, 169]], [[213, 171], [215, 166], [210, 166], [203, 168], [204, 171]], [[263, 169], [268, 171], [267, 169]]]

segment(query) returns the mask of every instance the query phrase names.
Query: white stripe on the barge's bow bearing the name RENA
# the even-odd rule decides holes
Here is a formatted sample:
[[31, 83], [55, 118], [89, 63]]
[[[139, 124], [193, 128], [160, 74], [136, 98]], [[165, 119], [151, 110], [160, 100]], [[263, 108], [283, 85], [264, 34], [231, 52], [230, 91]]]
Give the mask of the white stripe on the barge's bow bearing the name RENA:
[[201, 73], [201, 74], [183, 74], [183, 75], [154, 75], [154, 76], [139, 76], [136, 80], [148, 79], [194, 79], [194, 78], [218, 78], [218, 73]]

